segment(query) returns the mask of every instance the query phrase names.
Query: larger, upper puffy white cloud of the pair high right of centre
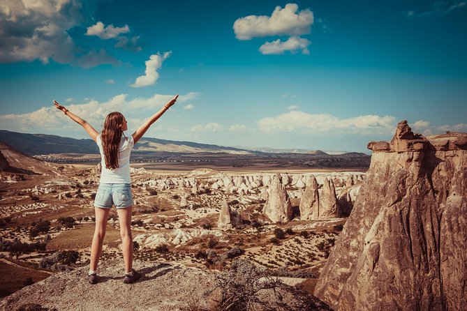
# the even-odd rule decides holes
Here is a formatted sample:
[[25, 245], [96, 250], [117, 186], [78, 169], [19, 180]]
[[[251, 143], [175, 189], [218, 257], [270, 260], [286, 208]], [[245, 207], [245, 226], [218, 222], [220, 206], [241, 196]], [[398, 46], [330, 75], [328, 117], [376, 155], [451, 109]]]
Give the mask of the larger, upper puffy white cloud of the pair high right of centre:
[[284, 8], [276, 6], [271, 17], [249, 15], [234, 22], [233, 29], [239, 40], [251, 40], [265, 36], [300, 36], [311, 33], [313, 12], [298, 10], [298, 5], [288, 3]]

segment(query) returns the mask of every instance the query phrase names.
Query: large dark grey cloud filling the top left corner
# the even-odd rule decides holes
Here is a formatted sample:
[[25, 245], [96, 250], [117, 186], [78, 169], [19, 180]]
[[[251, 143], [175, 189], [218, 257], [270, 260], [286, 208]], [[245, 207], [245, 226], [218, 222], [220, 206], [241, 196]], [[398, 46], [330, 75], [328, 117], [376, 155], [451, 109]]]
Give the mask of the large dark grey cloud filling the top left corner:
[[68, 30], [80, 24], [80, 0], [2, 1], [0, 4], [0, 63], [40, 60], [89, 68], [117, 64], [107, 52], [79, 54]]

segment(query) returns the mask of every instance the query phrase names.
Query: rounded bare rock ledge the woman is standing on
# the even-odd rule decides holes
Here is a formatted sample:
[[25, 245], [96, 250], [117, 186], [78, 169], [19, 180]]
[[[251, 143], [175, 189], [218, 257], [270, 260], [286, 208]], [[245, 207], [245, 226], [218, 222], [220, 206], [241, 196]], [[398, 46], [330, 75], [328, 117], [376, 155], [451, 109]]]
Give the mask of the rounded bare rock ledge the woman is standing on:
[[[96, 285], [89, 285], [84, 278], [87, 266], [57, 273], [3, 298], [0, 310], [220, 310], [218, 301], [222, 289], [227, 286], [228, 290], [235, 286], [236, 292], [228, 294], [242, 301], [246, 298], [240, 294], [255, 294], [251, 290], [253, 280], [256, 280], [254, 275], [246, 275], [240, 268], [227, 275], [215, 270], [187, 268], [178, 262], [135, 260], [133, 266], [142, 273], [142, 277], [131, 285], [123, 282], [121, 259], [103, 261], [98, 268], [101, 281]], [[218, 275], [233, 285], [218, 287]], [[251, 310], [258, 311], [331, 310], [306, 291], [284, 284], [276, 286], [274, 291], [261, 289], [251, 302]], [[28, 305], [29, 308], [26, 307]]]

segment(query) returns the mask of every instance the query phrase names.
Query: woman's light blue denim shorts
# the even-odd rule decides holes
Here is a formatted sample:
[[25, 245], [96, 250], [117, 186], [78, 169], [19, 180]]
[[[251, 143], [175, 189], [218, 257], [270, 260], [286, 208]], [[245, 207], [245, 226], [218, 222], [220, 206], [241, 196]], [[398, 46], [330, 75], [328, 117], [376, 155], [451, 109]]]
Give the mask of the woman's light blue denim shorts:
[[126, 208], [133, 205], [129, 183], [99, 183], [94, 206], [100, 208]]

